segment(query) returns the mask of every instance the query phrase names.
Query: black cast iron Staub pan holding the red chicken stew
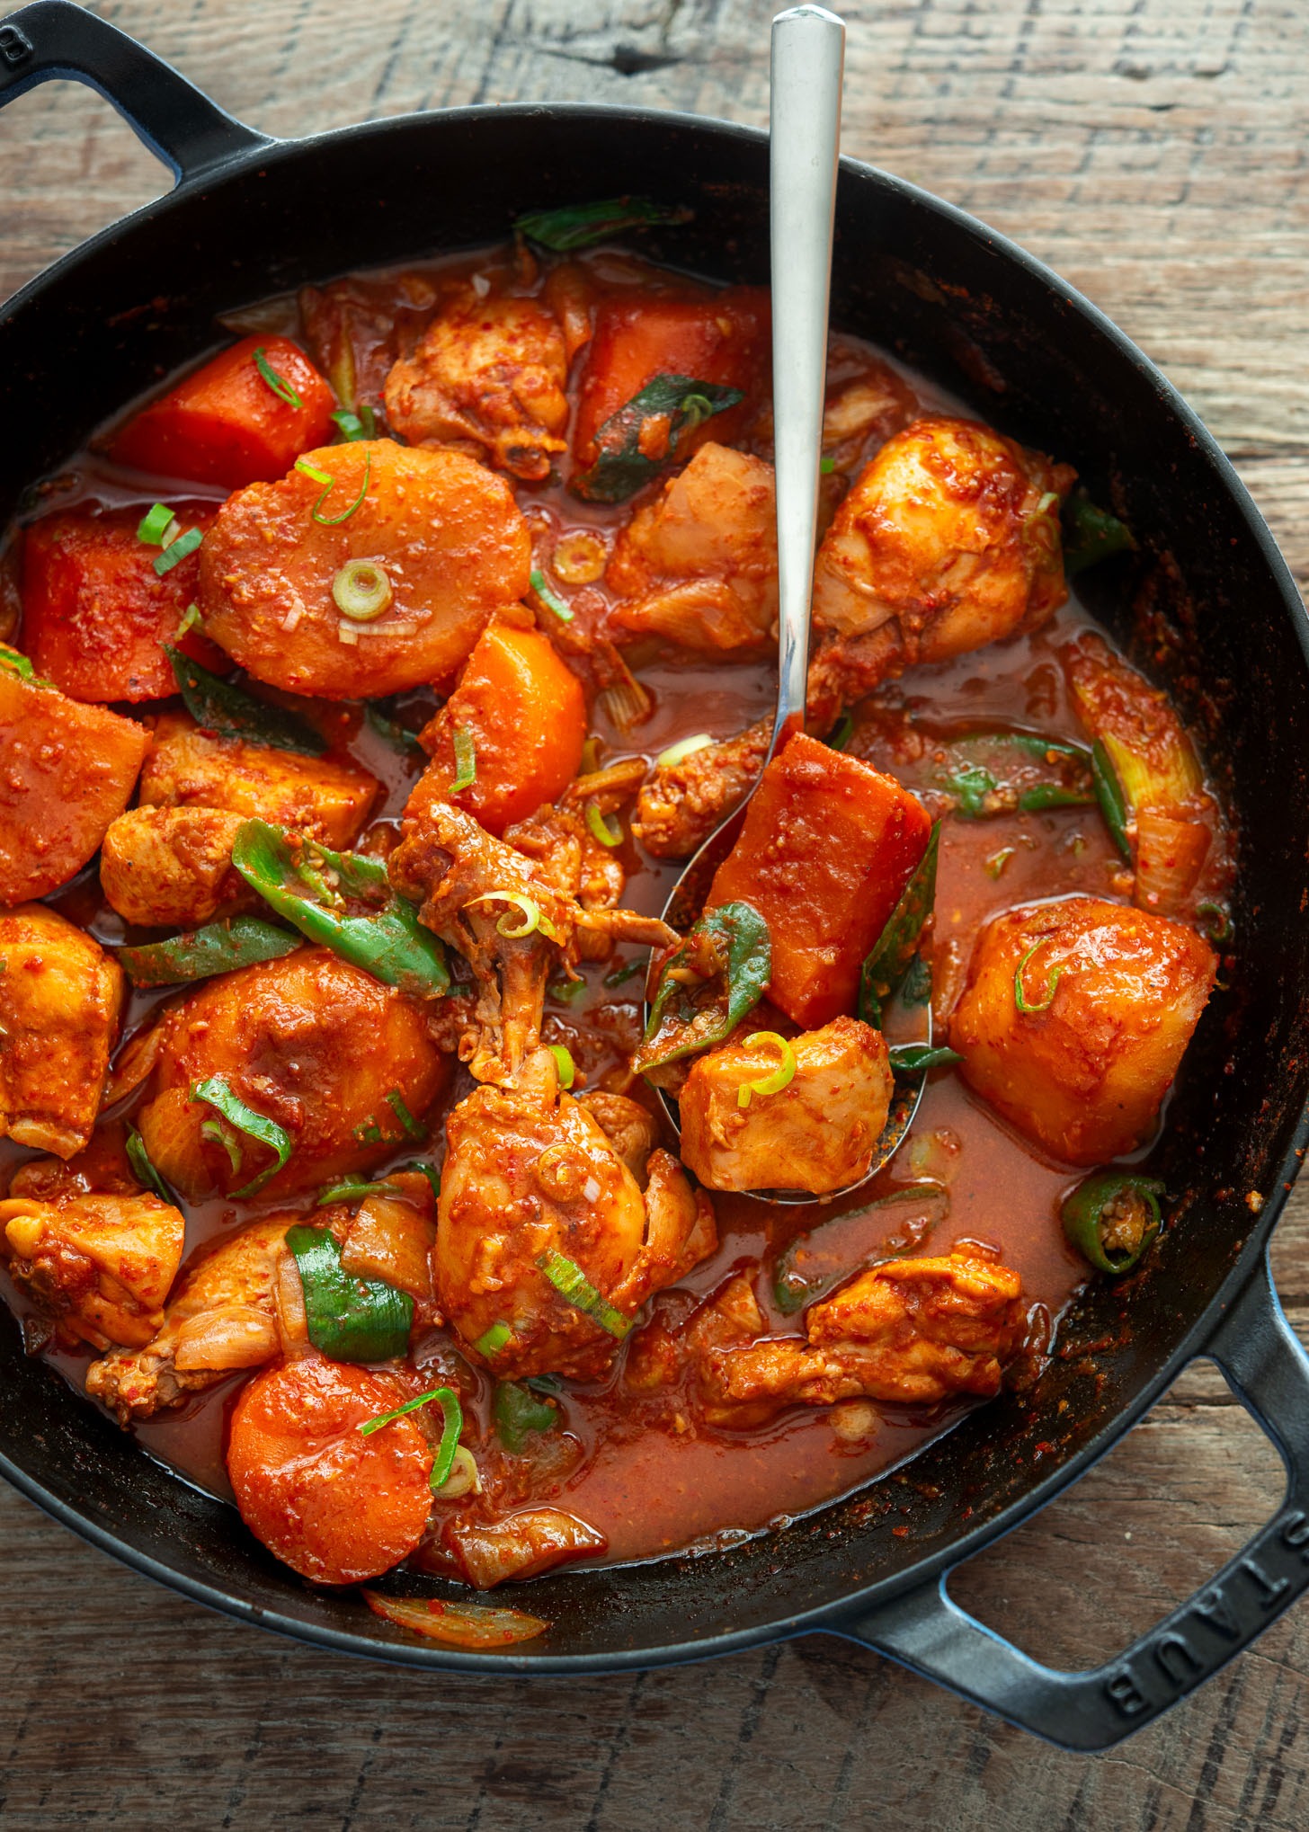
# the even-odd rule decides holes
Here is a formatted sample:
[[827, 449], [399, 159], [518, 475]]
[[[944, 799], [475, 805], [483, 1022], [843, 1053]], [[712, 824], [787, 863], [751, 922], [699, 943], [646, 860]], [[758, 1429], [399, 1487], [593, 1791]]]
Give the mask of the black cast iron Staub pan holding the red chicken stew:
[[[458, 108], [279, 143], [72, 0], [0, 22], [0, 104], [50, 77], [101, 90], [178, 174], [169, 196], [0, 308], [0, 522], [31, 478], [174, 365], [216, 317], [346, 269], [502, 236], [526, 207], [638, 192], [695, 222], [651, 253], [766, 280], [766, 139], [688, 115]], [[1100, 1284], [1032, 1394], [970, 1414], [913, 1484], [825, 1508], [711, 1557], [572, 1572], [530, 1588], [552, 1618], [522, 1652], [412, 1645], [354, 1596], [310, 1590], [235, 1513], [145, 1458], [28, 1361], [0, 1317], [0, 1469], [86, 1539], [174, 1588], [343, 1652], [473, 1673], [695, 1660], [827, 1630], [906, 1662], [1076, 1750], [1148, 1724], [1309, 1588], [1309, 1358], [1265, 1248], [1309, 1123], [1309, 623], [1269, 531], [1195, 416], [1093, 306], [1021, 249], [915, 187], [843, 161], [832, 315], [1076, 463], [1148, 548], [1091, 575], [1093, 608], [1150, 654], [1203, 731], [1238, 812], [1239, 962], [1182, 1064], [1157, 1165], [1186, 1191], [1148, 1273]], [[671, 240], [675, 234], [676, 240]], [[16, 436], [16, 431], [22, 436]], [[1080, 1345], [1113, 1343], [1111, 1348]], [[944, 1581], [1107, 1451], [1195, 1356], [1278, 1445], [1276, 1517], [1122, 1658], [1052, 1673], [964, 1616]], [[1067, 1401], [1060, 1411], [1062, 1401]], [[908, 1535], [891, 1528], [908, 1526]], [[1194, 1574], [1197, 1579], [1203, 1574]]]

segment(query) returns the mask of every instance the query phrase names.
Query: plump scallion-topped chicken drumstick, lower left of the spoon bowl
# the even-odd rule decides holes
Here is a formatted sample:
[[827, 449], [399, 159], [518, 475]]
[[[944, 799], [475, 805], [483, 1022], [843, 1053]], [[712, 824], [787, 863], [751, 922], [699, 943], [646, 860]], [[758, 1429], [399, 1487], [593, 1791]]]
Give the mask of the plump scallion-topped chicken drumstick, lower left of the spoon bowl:
[[436, 1299], [502, 1378], [603, 1374], [651, 1292], [717, 1246], [676, 1160], [651, 1154], [642, 1196], [548, 1050], [460, 1101], [446, 1132]]

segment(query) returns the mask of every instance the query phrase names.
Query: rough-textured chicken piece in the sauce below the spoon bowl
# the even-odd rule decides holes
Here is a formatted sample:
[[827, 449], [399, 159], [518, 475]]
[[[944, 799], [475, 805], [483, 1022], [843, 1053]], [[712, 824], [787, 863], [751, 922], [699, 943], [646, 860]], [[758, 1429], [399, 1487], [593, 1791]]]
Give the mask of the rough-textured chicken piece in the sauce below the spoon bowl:
[[886, 1260], [805, 1315], [805, 1339], [710, 1347], [700, 1369], [704, 1418], [754, 1425], [785, 1405], [864, 1396], [935, 1405], [990, 1400], [1025, 1330], [1016, 1271], [964, 1248], [942, 1259]]

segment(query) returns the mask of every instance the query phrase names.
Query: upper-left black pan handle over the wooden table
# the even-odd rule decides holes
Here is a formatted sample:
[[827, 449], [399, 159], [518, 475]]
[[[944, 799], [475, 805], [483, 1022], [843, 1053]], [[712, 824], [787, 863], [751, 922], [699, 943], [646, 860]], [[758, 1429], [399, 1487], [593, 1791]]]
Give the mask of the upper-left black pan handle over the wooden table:
[[154, 51], [73, 0], [35, 0], [0, 18], [0, 108], [53, 77], [73, 77], [99, 90], [182, 183], [273, 145], [266, 134], [233, 121]]

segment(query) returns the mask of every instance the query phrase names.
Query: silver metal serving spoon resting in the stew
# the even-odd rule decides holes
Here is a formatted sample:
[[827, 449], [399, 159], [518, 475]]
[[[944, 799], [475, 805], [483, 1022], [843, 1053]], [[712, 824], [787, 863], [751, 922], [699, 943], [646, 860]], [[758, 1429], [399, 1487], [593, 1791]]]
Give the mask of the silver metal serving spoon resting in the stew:
[[[834, 13], [821, 5], [798, 5], [774, 18], [768, 218], [777, 489], [777, 716], [764, 762], [792, 731], [801, 731], [805, 725], [843, 62], [845, 24]], [[680, 934], [686, 934], [700, 916], [713, 874], [741, 834], [750, 795], [754, 790], [710, 834], [673, 885], [664, 905], [664, 921]], [[649, 1019], [649, 987], [645, 1015]], [[908, 1033], [900, 1035], [906, 1020]], [[895, 1028], [896, 1041], [931, 1044], [931, 1006], [898, 1006]], [[873, 1150], [873, 1163], [858, 1182], [825, 1196], [799, 1189], [754, 1189], [750, 1194], [786, 1204], [836, 1202], [849, 1196], [876, 1176], [902, 1141], [922, 1086], [922, 1074], [896, 1077], [891, 1112]], [[680, 1136], [676, 1101], [664, 1088], [660, 1099]]]

